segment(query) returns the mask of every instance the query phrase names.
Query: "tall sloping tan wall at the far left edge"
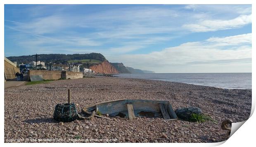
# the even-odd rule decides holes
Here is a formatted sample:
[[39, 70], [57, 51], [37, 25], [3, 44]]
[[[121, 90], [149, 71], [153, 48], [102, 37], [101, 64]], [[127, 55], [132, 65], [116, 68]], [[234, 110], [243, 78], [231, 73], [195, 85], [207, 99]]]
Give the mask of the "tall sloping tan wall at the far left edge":
[[16, 65], [5, 57], [5, 80], [16, 78], [15, 74], [20, 72]]

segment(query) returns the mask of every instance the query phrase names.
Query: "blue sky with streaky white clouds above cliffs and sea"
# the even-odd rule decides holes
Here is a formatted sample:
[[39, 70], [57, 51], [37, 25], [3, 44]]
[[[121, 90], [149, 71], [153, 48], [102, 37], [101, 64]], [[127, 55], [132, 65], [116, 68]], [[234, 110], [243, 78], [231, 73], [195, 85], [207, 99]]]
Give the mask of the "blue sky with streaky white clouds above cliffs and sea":
[[5, 56], [101, 53], [156, 73], [251, 72], [251, 5], [5, 5]]

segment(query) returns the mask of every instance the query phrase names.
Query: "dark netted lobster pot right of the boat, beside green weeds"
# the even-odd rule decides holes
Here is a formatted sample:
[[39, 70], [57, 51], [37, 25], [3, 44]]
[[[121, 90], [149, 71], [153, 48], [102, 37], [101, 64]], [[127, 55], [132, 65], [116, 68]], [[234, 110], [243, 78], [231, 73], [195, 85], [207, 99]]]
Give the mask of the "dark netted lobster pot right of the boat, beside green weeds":
[[197, 107], [179, 108], [175, 110], [175, 113], [180, 119], [190, 119], [193, 113], [198, 115], [202, 114], [202, 110]]

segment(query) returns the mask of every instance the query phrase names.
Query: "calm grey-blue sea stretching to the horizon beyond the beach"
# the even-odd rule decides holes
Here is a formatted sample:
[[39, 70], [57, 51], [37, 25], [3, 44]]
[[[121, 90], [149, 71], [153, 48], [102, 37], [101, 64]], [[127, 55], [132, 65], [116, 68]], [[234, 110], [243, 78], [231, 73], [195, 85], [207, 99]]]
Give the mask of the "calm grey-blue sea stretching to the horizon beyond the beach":
[[181, 82], [226, 89], [251, 89], [251, 73], [118, 74], [116, 76]]

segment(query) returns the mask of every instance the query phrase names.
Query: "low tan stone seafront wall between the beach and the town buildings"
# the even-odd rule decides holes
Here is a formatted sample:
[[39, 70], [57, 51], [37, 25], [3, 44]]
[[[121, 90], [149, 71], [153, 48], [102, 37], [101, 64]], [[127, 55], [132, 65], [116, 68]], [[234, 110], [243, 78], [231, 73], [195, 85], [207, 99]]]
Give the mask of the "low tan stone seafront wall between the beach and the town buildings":
[[42, 75], [44, 80], [83, 78], [82, 72], [29, 70], [28, 76]]

